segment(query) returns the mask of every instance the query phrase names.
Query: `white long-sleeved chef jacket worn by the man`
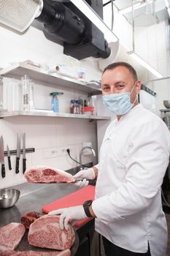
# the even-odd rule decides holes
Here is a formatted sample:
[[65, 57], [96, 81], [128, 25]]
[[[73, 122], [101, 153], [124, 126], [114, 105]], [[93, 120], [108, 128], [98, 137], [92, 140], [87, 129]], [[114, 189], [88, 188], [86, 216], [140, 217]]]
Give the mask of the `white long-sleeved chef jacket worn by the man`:
[[136, 105], [109, 124], [101, 145], [96, 230], [113, 244], [152, 256], [166, 251], [161, 184], [169, 163], [170, 132], [161, 118]]

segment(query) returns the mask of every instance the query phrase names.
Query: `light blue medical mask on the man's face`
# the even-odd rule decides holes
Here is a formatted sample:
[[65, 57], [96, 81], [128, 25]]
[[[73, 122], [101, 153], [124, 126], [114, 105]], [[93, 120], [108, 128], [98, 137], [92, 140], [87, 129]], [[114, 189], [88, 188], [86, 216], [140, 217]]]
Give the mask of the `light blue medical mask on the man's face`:
[[[136, 83], [134, 84], [134, 86]], [[130, 92], [122, 92], [120, 94], [107, 94], [103, 96], [104, 105], [109, 108], [117, 116], [122, 116], [131, 108], [134, 107], [134, 103], [131, 103], [131, 92], [134, 90], [134, 87]], [[136, 99], [134, 100], [136, 102]]]

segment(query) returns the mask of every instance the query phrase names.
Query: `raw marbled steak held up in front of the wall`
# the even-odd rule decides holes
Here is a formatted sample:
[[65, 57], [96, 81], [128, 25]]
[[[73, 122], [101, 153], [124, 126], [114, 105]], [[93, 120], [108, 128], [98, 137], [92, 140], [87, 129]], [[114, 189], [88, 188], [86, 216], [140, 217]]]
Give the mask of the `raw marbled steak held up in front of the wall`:
[[75, 181], [70, 173], [63, 170], [47, 167], [44, 165], [34, 166], [26, 170], [24, 176], [28, 182], [34, 183], [50, 183], [50, 182], [67, 182]]

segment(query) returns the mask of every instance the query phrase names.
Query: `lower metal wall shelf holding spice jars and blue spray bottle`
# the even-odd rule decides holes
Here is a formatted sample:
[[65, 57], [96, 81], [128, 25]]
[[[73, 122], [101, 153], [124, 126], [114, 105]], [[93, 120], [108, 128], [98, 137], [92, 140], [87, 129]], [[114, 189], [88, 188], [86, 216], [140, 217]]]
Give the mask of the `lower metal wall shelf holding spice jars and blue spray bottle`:
[[0, 118], [9, 116], [46, 116], [46, 117], [63, 117], [63, 118], [84, 118], [90, 120], [109, 120], [110, 116], [93, 116], [87, 114], [70, 114], [70, 113], [53, 113], [51, 110], [35, 110], [35, 111], [0, 111]]

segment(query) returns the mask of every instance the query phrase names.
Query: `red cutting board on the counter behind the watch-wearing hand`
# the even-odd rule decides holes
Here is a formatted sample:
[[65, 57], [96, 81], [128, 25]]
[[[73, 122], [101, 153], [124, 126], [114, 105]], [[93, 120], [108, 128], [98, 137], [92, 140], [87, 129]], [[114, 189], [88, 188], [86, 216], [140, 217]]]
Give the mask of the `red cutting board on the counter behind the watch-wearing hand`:
[[[77, 190], [76, 192], [73, 192], [72, 194], [66, 195], [65, 197], [55, 200], [52, 203], [48, 203], [46, 206], [42, 206], [42, 211], [44, 211], [46, 214], [48, 214], [49, 211], [54, 211], [59, 208], [80, 206], [86, 200], [94, 200], [94, 197], [95, 197], [95, 187], [94, 186], [83, 187], [82, 189]], [[85, 218], [85, 219], [82, 219], [82, 220], [76, 222], [75, 225], [77, 227], [81, 227], [88, 221], [89, 221], [89, 218]]]

